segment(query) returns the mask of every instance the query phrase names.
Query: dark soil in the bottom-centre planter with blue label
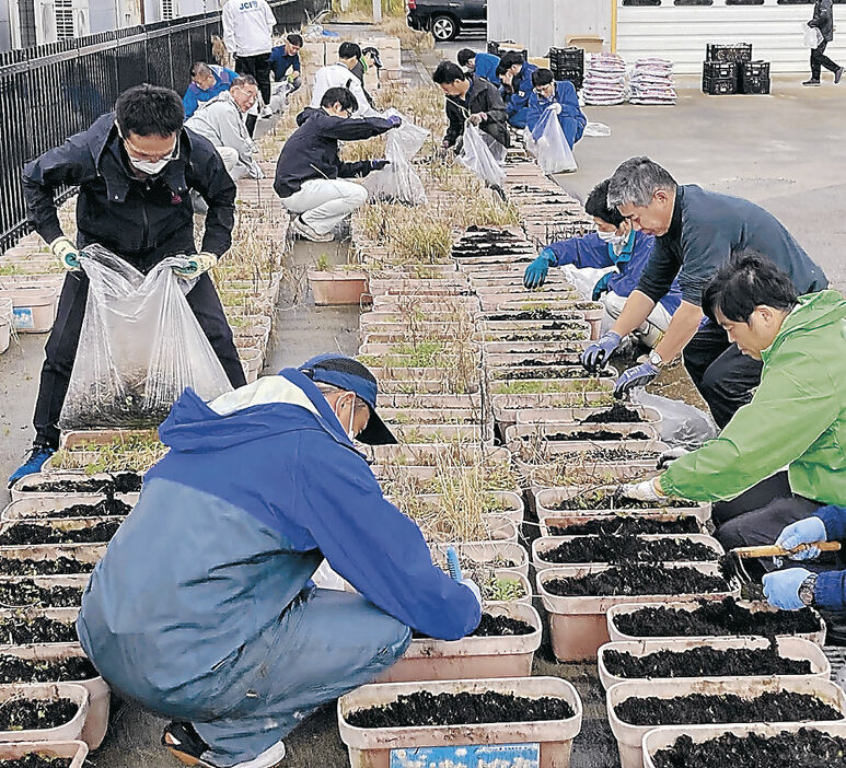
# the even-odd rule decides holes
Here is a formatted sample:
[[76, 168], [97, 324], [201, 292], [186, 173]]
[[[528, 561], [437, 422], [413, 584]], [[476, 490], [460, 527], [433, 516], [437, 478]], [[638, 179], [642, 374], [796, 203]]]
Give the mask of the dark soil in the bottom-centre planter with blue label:
[[567, 701], [548, 696], [530, 699], [490, 690], [437, 695], [421, 690], [380, 707], [355, 710], [347, 722], [356, 728], [408, 728], [565, 720], [573, 714]]

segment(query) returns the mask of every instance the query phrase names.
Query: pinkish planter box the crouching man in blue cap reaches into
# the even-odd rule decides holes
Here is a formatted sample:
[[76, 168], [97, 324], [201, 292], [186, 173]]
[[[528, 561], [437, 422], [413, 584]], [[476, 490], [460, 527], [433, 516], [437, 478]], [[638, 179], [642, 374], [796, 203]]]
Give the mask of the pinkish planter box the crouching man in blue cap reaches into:
[[529, 677], [541, 645], [541, 617], [522, 603], [486, 606], [485, 613], [530, 624], [531, 635], [467, 637], [462, 640], [412, 640], [408, 650], [379, 676], [379, 683], [457, 680], [486, 677]]

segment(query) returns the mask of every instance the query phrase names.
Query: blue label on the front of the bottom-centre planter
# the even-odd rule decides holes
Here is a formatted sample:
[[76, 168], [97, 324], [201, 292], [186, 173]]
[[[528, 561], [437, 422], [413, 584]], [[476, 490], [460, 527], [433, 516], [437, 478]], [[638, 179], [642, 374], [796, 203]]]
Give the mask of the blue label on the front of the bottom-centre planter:
[[391, 749], [390, 768], [538, 768], [540, 744], [468, 744]]

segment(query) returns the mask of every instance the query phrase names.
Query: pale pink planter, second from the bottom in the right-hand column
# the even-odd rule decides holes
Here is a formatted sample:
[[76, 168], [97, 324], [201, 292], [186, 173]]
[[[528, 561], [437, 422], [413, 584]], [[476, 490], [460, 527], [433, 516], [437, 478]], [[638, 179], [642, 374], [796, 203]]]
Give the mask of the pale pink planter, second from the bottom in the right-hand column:
[[[761, 694], [772, 691], [796, 691], [799, 694], [809, 694], [831, 705], [839, 710], [846, 717], [846, 694], [843, 689], [831, 683], [819, 678], [790, 679], [789, 677], [770, 677], [765, 680], [752, 682], [745, 679], [734, 680], [647, 680], [633, 683], [618, 683], [613, 686], [605, 695], [605, 701], [609, 710], [609, 722], [611, 730], [617, 740], [619, 748], [621, 768], [640, 768], [644, 765], [642, 741], [644, 736], [657, 725], [631, 725], [625, 723], [616, 715], [615, 708], [630, 697], [654, 696], [660, 699], [672, 699], [676, 696], [688, 694], [704, 694], [711, 696], [721, 696], [734, 694], [744, 699], [752, 699]], [[702, 723], [703, 725], [712, 725], [712, 723]], [[776, 725], [777, 723], [768, 723]], [[822, 724], [809, 721], [809, 725]], [[685, 725], [685, 729], [691, 725]]]

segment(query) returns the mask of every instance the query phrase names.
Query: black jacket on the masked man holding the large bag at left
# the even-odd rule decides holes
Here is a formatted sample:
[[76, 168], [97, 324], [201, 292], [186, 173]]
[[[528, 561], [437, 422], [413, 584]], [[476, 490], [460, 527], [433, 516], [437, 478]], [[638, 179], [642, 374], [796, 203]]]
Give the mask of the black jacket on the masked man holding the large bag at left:
[[173, 254], [195, 253], [196, 189], [208, 203], [202, 251], [222, 256], [232, 242], [235, 185], [208, 139], [179, 132], [179, 154], [155, 176], [138, 178], [108, 113], [23, 171], [30, 222], [48, 243], [62, 234], [55, 190], [78, 185], [77, 245], [100, 243], [148, 271]]

